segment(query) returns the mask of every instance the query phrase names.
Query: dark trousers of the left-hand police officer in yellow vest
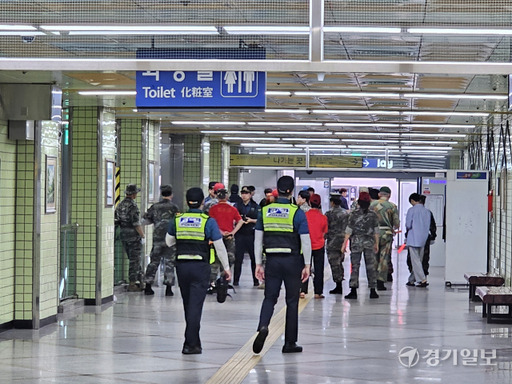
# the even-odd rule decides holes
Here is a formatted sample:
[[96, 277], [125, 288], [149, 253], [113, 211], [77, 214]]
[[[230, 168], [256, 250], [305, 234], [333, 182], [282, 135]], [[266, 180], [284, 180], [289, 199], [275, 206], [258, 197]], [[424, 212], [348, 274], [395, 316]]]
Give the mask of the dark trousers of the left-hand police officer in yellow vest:
[[178, 261], [176, 273], [185, 310], [184, 345], [200, 347], [199, 329], [206, 290], [210, 285], [210, 265], [204, 261]]

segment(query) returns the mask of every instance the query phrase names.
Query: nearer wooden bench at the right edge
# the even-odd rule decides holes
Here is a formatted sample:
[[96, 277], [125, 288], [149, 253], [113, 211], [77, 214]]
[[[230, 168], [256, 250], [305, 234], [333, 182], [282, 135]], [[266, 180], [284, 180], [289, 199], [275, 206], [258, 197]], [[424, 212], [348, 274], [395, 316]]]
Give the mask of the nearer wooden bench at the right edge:
[[[488, 323], [512, 324], [512, 288], [477, 287], [475, 293], [482, 299], [482, 317]], [[498, 307], [508, 307], [508, 313], [498, 313]]]

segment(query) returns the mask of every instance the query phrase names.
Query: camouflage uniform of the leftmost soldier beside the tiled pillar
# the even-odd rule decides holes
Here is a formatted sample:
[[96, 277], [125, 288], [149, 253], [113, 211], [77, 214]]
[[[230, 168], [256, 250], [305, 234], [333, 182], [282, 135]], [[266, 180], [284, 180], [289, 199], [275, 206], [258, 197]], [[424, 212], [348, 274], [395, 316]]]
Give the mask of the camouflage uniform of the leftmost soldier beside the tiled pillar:
[[128, 274], [130, 283], [141, 281], [142, 268], [140, 265], [142, 243], [141, 237], [135, 227], [140, 225], [140, 211], [135, 201], [125, 197], [116, 207], [114, 213], [115, 223], [121, 228], [120, 239], [128, 255]]

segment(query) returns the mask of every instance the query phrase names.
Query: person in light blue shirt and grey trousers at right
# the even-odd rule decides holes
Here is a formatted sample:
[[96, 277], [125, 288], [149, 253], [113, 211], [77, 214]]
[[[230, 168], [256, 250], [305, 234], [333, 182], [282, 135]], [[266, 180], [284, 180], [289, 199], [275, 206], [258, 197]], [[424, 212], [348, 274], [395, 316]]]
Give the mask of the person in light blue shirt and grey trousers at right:
[[[430, 229], [431, 213], [421, 204], [421, 196], [413, 193], [409, 196], [409, 208], [405, 215], [405, 228], [407, 230], [407, 250], [411, 256], [412, 271], [414, 276], [409, 278], [406, 285], [425, 288], [428, 285], [425, 272], [423, 271], [423, 252], [427, 242]], [[414, 280], [413, 280], [414, 279]]]

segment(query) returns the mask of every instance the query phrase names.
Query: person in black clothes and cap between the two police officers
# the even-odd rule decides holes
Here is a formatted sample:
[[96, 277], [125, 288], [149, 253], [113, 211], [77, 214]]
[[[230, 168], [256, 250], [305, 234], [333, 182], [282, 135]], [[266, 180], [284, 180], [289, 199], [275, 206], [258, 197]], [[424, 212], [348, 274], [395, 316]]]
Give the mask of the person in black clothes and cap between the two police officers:
[[260, 285], [256, 279], [256, 260], [254, 258], [254, 226], [258, 218], [260, 207], [252, 199], [251, 191], [247, 187], [242, 187], [240, 192], [242, 196], [242, 204], [238, 204], [238, 213], [242, 217], [244, 224], [235, 235], [235, 269], [233, 276], [233, 285], [239, 285], [240, 276], [242, 275], [242, 264], [244, 262], [245, 252], [249, 254], [251, 259], [251, 270], [253, 286]]

